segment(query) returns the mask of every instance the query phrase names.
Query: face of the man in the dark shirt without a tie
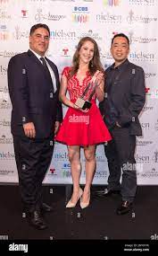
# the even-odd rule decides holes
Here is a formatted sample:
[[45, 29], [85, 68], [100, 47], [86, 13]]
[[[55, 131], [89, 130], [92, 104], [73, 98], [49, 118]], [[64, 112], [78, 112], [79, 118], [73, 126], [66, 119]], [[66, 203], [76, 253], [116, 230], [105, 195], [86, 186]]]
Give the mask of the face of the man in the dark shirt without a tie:
[[124, 37], [116, 37], [112, 42], [111, 53], [115, 60], [115, 66], [121, 65], [129, 55], [128, 40]]

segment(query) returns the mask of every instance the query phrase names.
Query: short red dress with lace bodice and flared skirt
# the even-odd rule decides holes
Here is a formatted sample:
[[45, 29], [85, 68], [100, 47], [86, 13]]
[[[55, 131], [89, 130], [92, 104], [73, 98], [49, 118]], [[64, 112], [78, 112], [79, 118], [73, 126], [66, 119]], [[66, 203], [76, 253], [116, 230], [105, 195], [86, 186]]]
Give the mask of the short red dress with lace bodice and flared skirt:
[[[87, 72], [82, 85], [76, 75], [69, 76], [69, 66], [66, 66], [62, 75], [68, 79], [68, 92], [71, 102], [76, 102], [77, 98], [87, 88], [91, 75]], [[100, 110], [96, 106], [96, 93], [91, 100], [92, 106], [87, 113], [80, 110], [69, 108], [61, 127], [55, 137], [55, 140], [68, 146], [90, 146], [97, 145], [112, 139], [108, 129], [104, 124], [104, 120], [100, 114]]]

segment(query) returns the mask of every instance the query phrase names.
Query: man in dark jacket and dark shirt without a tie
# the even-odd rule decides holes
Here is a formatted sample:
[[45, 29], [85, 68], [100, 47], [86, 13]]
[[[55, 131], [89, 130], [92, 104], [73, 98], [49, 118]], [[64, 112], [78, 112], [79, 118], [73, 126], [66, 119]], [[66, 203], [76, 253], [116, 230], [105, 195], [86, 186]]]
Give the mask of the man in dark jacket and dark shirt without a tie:
[[117, 214], [122, 215], [130, 211], [137, 190], [134, 154], [136, 136], [142, 135], [138, 115], [146, 101], [145, 75], [142, 67], [128, 60], [126, 35], [120, 33], [112, 38], [111, 53], [115, 62], [106, 70], [104, 102], [100, 103], [104, 122], [112, 134], [112, 141], [104, 146], [110, 172], [105, 196], [121, 192]]

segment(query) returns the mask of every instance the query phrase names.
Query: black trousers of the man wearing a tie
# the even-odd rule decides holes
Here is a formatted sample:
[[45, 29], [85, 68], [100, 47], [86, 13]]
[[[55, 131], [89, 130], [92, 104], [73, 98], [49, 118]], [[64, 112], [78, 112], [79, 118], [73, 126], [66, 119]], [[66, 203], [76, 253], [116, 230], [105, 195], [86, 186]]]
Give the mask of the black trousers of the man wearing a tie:
[[42, 181], [51, 163], [54, 142], [52, 137], [13, 137], [13, 146], [22, 204], [27, 210], [34, 211], [42, 203]]

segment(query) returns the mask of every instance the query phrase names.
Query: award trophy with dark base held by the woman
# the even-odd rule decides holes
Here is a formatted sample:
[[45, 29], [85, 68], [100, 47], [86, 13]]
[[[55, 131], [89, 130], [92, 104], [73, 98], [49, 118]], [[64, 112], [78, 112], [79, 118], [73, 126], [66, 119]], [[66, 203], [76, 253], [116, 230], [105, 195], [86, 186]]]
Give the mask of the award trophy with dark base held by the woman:
[[77, 105], [79, 109], [82, 109], [82, 110], [90, 109], [92, 105], [90, 101], [92, 100], [96, 87], [97, 87], [96, 82], [91, 81], [87, 84], [86, 90], [75, 102], [75, 105]]

